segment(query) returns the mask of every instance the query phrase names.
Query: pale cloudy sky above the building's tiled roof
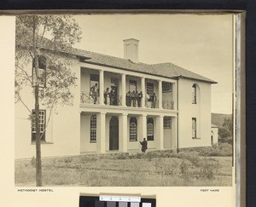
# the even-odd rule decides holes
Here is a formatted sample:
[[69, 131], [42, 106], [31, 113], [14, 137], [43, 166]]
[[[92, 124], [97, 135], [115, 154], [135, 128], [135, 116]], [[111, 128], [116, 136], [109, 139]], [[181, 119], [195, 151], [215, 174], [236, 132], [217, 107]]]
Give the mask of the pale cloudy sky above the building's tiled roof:
[[232, 112], [232, 15], [77, 15], [82, 40], [74, 47], [124, 57], [126, 38], [139, 40], [139, 62], [172, 62], [210, 78], [212, 112]]

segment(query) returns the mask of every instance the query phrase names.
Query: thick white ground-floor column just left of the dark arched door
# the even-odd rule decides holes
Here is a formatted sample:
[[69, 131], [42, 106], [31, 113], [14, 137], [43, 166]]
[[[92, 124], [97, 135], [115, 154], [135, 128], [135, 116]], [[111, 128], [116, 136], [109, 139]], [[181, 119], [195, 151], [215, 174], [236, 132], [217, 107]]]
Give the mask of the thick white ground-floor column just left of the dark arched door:
[[106, 152], [106, 112], [99, 112], [96, 115], [96, 151]]

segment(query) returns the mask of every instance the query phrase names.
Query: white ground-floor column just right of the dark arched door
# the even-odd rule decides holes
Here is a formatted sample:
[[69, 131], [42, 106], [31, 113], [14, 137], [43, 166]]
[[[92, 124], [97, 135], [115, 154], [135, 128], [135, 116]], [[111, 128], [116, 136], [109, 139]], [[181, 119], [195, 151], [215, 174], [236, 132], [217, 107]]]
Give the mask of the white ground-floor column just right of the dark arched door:
[[119, 149], [120, 152], [127, 152], [128, 129], [127, 129], [127, 113], [119, 115]]

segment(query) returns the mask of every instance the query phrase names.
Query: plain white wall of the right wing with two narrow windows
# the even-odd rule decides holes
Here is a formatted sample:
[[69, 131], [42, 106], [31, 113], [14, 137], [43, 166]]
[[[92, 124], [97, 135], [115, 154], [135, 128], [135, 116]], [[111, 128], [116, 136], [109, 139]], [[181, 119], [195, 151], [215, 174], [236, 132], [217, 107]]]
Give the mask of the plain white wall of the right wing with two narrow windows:
[[[192, 86], [197, 85], [197, 104], [192, 104]], [[192, 118], [196, 118], [197, 137], [192, 138]], [[211, 146], [211, 84], [178, 80], [178, 147]]]

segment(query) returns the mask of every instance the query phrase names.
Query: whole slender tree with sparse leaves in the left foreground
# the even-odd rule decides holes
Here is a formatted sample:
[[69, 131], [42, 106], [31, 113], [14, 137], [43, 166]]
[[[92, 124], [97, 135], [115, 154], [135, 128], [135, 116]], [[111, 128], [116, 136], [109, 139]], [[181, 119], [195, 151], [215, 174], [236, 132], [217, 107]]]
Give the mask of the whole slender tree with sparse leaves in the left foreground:
[[[76, 77], [71, 70], [73, 57], [68, 54], [80, 36], [80, 27], [72, 16], [20, 15], [16, 18], [15, 102], [26, 106], [35, 124], [37, 186], [43, 185], [41, 137], [44, 133], [40, 135], [40, 105], [49, 110], [49, 118], [58, 106], [72, 105], [71, 88], [75, 86]], [[34, 113], [20, 93], [27, 87], [34, 96]]]

